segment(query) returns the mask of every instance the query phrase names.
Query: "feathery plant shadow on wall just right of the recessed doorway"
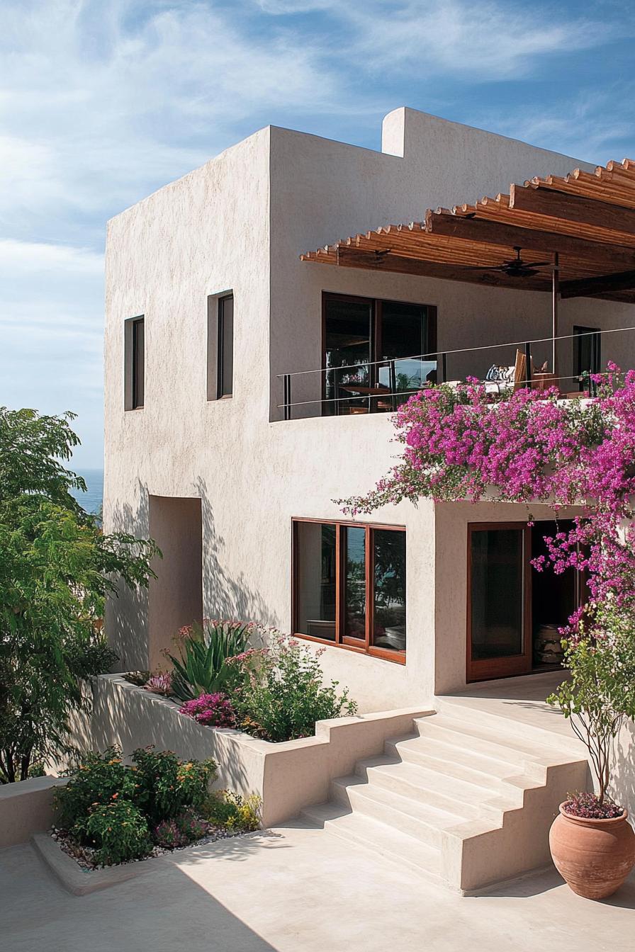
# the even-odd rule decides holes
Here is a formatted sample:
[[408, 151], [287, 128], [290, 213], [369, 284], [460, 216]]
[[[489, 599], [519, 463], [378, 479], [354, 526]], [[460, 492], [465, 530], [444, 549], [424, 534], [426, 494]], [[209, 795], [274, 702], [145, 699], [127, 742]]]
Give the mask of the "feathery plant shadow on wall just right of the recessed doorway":
[[[214, 513], [209, 502], [206, 481], [198, 481], [203, 516], [203, 605], [209, 617], [236, 618], [242, 622], [262, 622], [264, 625], [280, 625], [280, 616], [262, 593], [254, 586], [257, 579], [248, 579], [241, 570], [237, 575], [228, 572], [227, 543], [217, 530]], [[236, 540], [261, 531], [257, 521], [246, 516], [245, 522], [235, 527]], [[263, 539], [263, 551], [267, 550]]]

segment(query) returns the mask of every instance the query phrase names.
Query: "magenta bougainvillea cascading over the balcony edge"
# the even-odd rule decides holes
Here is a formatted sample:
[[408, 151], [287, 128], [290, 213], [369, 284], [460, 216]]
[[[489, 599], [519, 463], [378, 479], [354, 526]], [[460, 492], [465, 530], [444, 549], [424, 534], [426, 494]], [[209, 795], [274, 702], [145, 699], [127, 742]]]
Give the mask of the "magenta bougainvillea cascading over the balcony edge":
[[594, 604], [635, 605], [635, 371], [609, 364], [592, 379], [599, 393], [588, 401], [559, 399], [557, 388], [493, 398], [475, 381], [421, 390], [394, 417], [398, 464], [366, 496], [339, 502], [353, 516], [420, 498], [520, 502], [528, 522], [531, 504], [556, 516], [581, 506], [533, 563], [585, 572], [589, 605], [562, 629], [575, 641]]

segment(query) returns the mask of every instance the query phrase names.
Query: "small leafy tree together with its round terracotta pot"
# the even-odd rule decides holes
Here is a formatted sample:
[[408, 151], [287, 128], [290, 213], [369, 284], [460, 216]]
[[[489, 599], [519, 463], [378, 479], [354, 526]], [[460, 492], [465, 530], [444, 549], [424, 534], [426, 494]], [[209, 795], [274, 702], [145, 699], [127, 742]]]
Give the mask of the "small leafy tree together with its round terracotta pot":
[[551, 857], [573, 892], [605, 899], [635, 864], [635, 834], [625, 808], [609, 798], [613, 746], [635, 715], [635, 627], [631, 612], [609, 599], [590, 605], [565, 643], [566, 680], [547, 700], [560, 707], [585, 744], [597, 793], [577, 792], [560, 804], [549, 832]]

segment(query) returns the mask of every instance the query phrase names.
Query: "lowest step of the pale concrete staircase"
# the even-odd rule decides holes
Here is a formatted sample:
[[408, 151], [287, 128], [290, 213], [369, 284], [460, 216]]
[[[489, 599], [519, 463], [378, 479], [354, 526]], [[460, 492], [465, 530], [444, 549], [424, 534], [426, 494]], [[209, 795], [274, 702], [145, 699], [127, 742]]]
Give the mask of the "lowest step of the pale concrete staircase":
[[349, 843], [357, 843], [394, 863], [408, 866], [431, 882], [441, 882], [439, 850], [393, 826], [361, 813], [343, 813], [339, 803], [308, 806], [300, 816], [308, 823], [323, 826], [329, 833]]

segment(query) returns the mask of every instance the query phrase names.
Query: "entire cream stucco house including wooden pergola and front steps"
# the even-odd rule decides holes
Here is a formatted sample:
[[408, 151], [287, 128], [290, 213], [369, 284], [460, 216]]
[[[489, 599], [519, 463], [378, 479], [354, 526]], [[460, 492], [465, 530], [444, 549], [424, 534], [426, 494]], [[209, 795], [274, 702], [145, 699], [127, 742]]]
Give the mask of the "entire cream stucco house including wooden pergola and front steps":
[[[632, 163], [412, 109], [381, 151], [261, 129], [109, 222], [104, 525], [163, 551], [148, 592], [109, 602], [121, 669], [165, 664], [195, 619], [252, 620], [323, 647], [367, 718], [248, 739], [247, 773], [228, 758], [246, 792], [260, 764], [269, 820], [306, 806], [461, 889], [548, 860], [558, 803], [588, 783], [544, 704], [581, 598], [575, 573], [530, 571], [551, 511], [353, 521], [336, 500], [387, 473], [390, 411], [429, 381], [508, 367], [492, 387], [571, 394], [608, 359], [635, 366], [634, 261]], [[140, 743], [180, 743], [165, 704], [149, 721], [147, 694], [103, 690], [93, 743], [131, 747], [142, 722]]]

